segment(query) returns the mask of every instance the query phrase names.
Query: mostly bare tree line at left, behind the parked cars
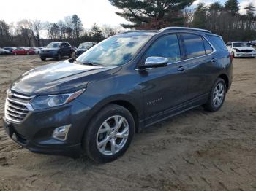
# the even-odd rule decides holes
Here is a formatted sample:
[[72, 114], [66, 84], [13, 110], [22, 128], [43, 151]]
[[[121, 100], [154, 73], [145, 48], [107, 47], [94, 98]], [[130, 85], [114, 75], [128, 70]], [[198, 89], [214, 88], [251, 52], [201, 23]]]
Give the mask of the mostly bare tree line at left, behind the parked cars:
[[78, 15], [64, 17], [58, 23], [23, 19], [14, 25], [0, 20], [0, 47], [43, 47], [49, 42], [78, 46], [82, 42], [100, 42], [119, 30], [108, 25], [99, 27], [96, 23], [89, 29], [83, 28]]

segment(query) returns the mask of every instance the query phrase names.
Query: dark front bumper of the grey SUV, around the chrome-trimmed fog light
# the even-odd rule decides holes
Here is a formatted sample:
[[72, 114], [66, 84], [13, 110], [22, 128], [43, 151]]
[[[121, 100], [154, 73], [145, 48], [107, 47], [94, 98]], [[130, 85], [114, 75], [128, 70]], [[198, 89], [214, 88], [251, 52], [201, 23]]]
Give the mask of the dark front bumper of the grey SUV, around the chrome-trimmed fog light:
[[[31, 152], [79, 157], [86, 115], [90, 108], [78, 101], [67, 106], [29, 112], [21, 123], [3, 117], [4, 129], [11, 139]], [[71, 124], [66, 141], [53, 139], [53, 130]]]

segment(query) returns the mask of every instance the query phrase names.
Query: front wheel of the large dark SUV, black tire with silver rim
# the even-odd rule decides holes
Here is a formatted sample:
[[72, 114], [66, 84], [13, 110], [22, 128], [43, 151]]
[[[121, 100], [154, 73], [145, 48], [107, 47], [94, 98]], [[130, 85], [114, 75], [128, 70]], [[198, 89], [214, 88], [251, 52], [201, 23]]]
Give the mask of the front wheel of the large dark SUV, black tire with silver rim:
[[[122, 120], [120, 128], [116, 128], [116, 119], [119, 122]], [[108, 125], [103, 125], [105, 122]], [[103, 133], [100, 133], [99, 130]], [[123, 106], [109, 104], [92, 117], [91, 122], [89, 122], [83, 136], [83, 150], [91, 160], [97, 163], [109, 163], [124, 155], [134, 133], [135, 121], [132, 114]], [[120, 136], [120, 138], [116, 136]], [[101, 144], [102, 142], [105, 144]]]

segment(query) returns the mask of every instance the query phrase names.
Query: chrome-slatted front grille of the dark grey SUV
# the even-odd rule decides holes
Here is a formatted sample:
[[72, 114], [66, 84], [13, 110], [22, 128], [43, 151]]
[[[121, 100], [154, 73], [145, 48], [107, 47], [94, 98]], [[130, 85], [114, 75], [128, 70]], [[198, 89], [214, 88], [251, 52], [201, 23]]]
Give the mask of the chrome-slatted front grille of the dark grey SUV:
[[8, 93], [5, 103], [5, 118], [11, 122], [21, 122], [32, 110], [29, 101], [34, 96], [24, 96], [15, 93]]

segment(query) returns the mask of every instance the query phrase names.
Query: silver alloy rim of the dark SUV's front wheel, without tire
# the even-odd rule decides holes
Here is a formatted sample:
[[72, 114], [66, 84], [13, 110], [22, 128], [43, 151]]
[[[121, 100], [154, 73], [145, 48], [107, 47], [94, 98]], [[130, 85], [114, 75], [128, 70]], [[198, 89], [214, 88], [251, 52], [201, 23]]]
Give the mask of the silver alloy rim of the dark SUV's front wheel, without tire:
[[105, 120], [97, 133], [97, 149], [103, 155], [115, 155], [127, 143], [129, 124], [125, 117], [114, 115]]

